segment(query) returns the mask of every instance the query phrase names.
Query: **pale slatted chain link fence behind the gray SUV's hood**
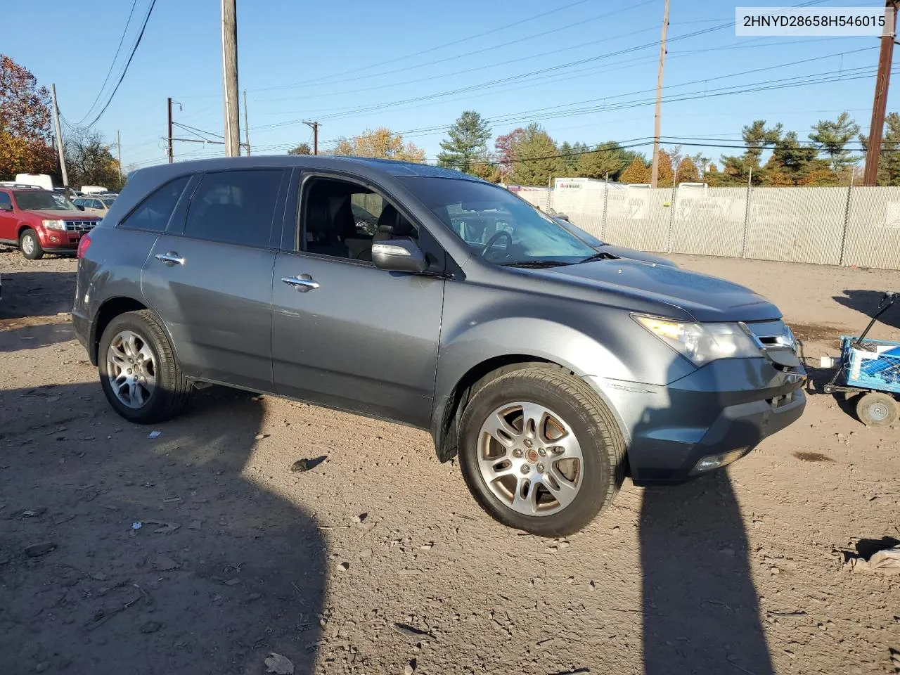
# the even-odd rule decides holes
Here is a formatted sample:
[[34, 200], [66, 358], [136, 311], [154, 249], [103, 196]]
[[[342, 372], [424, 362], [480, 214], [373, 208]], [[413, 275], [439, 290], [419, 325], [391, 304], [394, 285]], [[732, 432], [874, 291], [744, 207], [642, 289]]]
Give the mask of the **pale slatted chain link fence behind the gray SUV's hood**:
[[644, 251], [900, 269], [900, 187], [592, 188], [518, 195]]

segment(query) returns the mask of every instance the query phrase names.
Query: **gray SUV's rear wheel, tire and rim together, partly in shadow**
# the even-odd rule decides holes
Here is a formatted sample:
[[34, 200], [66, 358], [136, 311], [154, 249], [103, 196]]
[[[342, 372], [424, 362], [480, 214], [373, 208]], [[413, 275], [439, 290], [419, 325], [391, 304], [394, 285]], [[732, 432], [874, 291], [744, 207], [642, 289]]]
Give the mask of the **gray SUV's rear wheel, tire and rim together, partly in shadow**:
[[137, 424], [174, 418], [193, 391], [159, 320], [148, 310], [129, 311], [110, 321], [100, 339], [97, 370], [106, 400], [121, 417]]

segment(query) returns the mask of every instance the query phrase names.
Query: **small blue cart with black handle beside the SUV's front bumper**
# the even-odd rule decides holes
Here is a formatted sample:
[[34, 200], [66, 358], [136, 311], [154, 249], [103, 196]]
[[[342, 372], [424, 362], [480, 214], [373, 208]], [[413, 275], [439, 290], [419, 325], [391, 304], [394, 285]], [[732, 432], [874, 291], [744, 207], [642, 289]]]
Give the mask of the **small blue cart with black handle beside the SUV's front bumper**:
[[856, 414], [869, 427], [887, 427], [897, 419], [900, 342], [866, 338], [878, 317], [894, 304], [896, 297], [896, 293], [884, 294], [869, 326], [859, 338], [841, 337], [841, 362], [823, 388], [825, 393], [861, 393], [856, 403]]

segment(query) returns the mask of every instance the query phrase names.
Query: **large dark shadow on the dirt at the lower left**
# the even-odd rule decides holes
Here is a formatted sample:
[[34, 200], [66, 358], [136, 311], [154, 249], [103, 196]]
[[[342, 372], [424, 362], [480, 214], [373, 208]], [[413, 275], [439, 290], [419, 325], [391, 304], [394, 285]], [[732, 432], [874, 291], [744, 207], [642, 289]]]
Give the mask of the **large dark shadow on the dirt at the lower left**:
[[311, 673], [326, 546], [254, 478], [288, 470], [263, 417], [219, 388], [157, 427], [96, 383], [0, 392], [0, 672]]

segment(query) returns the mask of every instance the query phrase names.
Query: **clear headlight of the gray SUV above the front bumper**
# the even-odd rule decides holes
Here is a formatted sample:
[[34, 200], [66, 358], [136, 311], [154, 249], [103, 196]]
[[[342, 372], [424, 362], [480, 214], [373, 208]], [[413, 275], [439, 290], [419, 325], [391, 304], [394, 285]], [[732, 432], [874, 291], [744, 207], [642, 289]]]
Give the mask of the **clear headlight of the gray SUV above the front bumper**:
[[762, 356], [760, 347], [737, 323], [683, 323], [636, 314], [632, 316], [695, 365], [719, 358]]

